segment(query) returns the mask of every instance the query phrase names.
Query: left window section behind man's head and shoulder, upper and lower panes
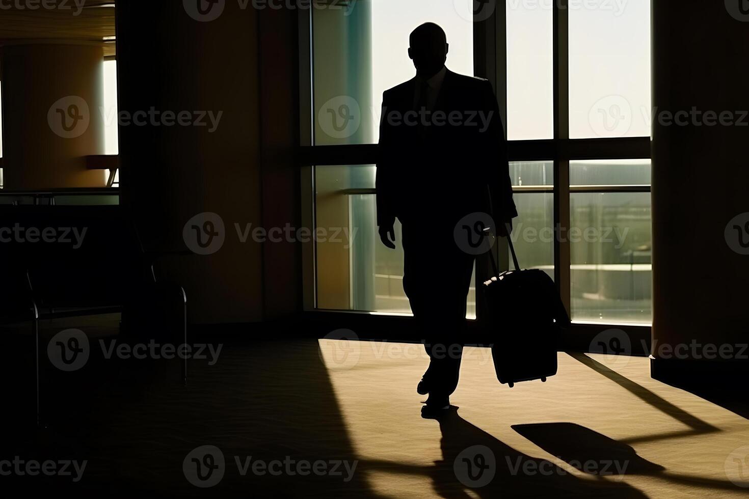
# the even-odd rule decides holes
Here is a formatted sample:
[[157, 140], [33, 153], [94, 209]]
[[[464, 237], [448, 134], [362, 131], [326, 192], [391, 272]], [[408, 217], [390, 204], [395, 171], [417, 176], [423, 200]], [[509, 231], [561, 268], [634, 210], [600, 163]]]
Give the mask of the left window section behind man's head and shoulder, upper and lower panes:
[[[408, 37], [422, 22], [446, 31], [447, 66], [473, 74], [471, 2], [376, 0], [313, 10], [314, 144], [378, 141], [383, 91], [413, 78]], [[392, 251], [376, 237], [375, 166], [318, 164], [314, 178], [315, 227], [343, 235], [315, 243], [317, 307], [409, 314], [401, 245]], [[476, 317], [473, 286], [467, 317]]]

